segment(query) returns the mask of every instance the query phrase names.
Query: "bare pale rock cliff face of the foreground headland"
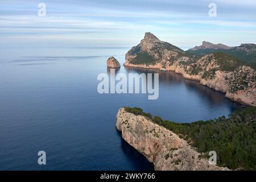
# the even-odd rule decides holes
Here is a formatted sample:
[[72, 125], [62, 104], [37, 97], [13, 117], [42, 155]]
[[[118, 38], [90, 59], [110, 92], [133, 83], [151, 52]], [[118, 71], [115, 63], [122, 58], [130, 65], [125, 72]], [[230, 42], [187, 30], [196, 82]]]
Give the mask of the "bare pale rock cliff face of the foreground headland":
[[127, 143], [154, 163], [155, 170], [228, 170], [199, 158], [200, 153], [185, 140], [142, 115], [134, 115], [121, 108], [116, 127]]

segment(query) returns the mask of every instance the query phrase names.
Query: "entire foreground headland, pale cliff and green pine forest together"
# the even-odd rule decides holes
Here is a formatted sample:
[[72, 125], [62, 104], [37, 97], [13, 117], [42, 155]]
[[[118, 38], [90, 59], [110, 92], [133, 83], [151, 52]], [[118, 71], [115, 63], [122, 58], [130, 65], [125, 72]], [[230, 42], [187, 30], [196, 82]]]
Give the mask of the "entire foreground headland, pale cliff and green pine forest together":
[[[122, 107], [115, 126], [155, 170], [255, 170], [255, 117], [256, 107], [246, 107], [229, 118], [176, 123]], [[210, 151], [217, 166], [208, 161]]]

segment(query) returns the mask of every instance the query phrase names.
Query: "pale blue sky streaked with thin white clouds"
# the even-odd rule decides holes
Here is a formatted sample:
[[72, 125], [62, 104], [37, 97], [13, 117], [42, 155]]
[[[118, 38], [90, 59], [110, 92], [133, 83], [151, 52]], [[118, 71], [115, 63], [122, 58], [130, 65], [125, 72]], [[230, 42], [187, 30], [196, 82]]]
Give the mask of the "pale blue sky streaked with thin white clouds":
[[[144, 32], [181, 48], [256, 43], [255, 0], [0, 0], [0, 48], [131, 47]], [[46, 16], [38, 16], [38, 4]], [[217, 16], [210, 17], [209, 3]]]

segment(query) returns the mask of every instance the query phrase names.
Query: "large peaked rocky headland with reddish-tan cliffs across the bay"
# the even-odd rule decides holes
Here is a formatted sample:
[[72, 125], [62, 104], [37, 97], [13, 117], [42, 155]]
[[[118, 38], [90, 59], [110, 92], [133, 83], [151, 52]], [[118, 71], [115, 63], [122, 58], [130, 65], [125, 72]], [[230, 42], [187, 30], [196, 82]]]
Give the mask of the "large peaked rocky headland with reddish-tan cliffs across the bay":
[[226, 93], [230, 100], [256, 106], [256, 71], [226, 53], [210, 53], [201, 58], [189, 55], [151, 33], [126, 53], [126, 67], [174, 71], [189, 80]]

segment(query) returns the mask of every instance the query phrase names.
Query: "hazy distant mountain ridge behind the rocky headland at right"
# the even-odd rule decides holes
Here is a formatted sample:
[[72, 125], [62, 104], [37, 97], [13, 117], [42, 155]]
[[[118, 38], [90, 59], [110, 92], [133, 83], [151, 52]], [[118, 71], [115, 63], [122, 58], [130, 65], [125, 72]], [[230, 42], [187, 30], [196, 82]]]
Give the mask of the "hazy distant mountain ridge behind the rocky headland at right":
[[224, 44], [203, 42], [201, 46], [188, 49], [186, 52], [200, 56], [208, 55], [213, 52], [223, 52], [240, 59], [253, 68], [256, 68], [256, 44], [241, 44], [241, 46], [229, 47]]

